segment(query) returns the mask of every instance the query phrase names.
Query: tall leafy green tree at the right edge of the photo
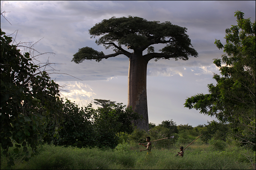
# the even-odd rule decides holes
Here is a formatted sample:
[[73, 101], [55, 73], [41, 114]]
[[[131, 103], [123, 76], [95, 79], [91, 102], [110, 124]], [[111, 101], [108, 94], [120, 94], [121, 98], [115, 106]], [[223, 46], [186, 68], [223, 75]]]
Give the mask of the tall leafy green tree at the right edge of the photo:
[[237, 25], [226, 29], [226, 45], [215, 40], [225, 52], [222, 62], [226, 65], [221, 66], [220, 59], [213, 62], [222, 77], [214, 74], [217, 84], [208, 84], [209, 94], [192, 96], [184, 105], [229, 122], [236, 140], [255, 147], [255, 21], [244, 19], [241, 11], [235, 17]]

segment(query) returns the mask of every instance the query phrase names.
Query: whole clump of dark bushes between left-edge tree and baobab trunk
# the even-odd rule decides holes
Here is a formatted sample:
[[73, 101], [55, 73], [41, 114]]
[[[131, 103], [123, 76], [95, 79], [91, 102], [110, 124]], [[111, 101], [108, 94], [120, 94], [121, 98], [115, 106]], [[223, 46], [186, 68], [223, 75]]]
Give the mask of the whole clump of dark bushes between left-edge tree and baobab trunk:
[[63, 128], [59, 131], [60, 138], [52, 136], [55, 133], [55, 126], [49, 124], [48, 131], [44, 134], [44, 142], [77, 147], [114, 148], [118, 143], [118, 133], [132, 133], [134, 127], [131, 120], [140, 118], [122, 103], [105, 104], [103, 108], [97, 109], [92, 108], [90, 103], [79, 108], [66, 99], [63, 112], [66, 115], [61, 124]]

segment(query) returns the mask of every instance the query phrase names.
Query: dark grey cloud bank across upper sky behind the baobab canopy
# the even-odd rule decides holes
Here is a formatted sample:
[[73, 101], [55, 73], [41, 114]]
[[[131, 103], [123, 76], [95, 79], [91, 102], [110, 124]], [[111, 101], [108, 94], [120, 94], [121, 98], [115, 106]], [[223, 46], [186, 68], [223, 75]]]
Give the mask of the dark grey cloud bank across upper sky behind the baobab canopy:
[[[62, 72], [83, 80], [106, 80], [113, 75], [128, 74], [127, 57], [118, 57], [118, 67], [116, 59], [102, 60], [100, 63], [84, 61], [79, 65], [70, 62], [78, 48], [84, 46], [106, 54], [113, 53], [103, 46], [97, 46], [95, 39], [90, 39], [88, 34], [88, 29], [103, 19], [132, 15], [160, 22], [171, 21], [172, 24], [187, 27], [192, 45], [199, 54], [198, 58], [190, 58], [186, 62], [158, 61], [160, 63], [154, 65], [160, 67], [161, 62], [165, 62], [165, 70], [196, 64], [209, 66], [213, 58], [221, 55], [221, 51], [214, 45], [215, 38], [223, 41], [225, 29], [236, 23], [236, 10], [242, 10], [245, 17], [250, 13], [254, 14], [251, 17], [255, 16], [253, 4], [255, 2], [252, 1], [19, 1], [4, 4], [4, 8], [11, 11], [7, 18], [17, 26], [14, 28], [14, 25], [8, 25], [6, 21], [2, 25], [10, 32], [19, 29], [17, 39], [27, 42], [44, 37], [36, 48], [56, 53], [54, 57], [50, 56], [50, 61], [65, 63], [66, 65], [56, 66]], [[160, 48], [162, 47], [156, 47], [156, 51]], [[41, 60], [45, 61], [48, 57], [42, 57]], [[148, 68], [150, 67], [149, 64]], [[76, 69], [80, 71], [77, 72]]]

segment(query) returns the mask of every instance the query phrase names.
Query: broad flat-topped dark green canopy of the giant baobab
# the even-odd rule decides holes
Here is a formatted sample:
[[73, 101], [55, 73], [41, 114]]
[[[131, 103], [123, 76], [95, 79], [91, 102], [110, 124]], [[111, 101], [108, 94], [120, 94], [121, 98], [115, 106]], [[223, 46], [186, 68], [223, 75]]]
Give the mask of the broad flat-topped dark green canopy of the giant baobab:
[[[144, 55], [146, 60], [153, 58], [155, 60], [160, 58], [188, 60], [189, 55], [197, 57], [198, 53], [192, 48], [191, 40], [186, 32], [187, 28], [172, 25], [169, 21], [160, 23], [159, 21], [147, 21], [146, 19], [132, 16], [104, 19], [102, 22], [95, 24], [89, 30], [89, 34], [91, 38], [101, 36], [95, 43], [103, 45], [106, 49], [111, 47], [116, 53], [105, 55], [103, 52], [98, 52], [86, 46], [80, 48], [73, 55], [72, 61], [77, 64], [83, 60], [92, 59], [99, 62], [103, 58], [107, 59], [119, 54], [130, 57], [131, 53], [124, 50], [122, 45], [141, 53], [148, 49], [148, 54]], [[154, 46], [152, 46], [154, 44], [166, 44], [166, 46], [159, 50], [161, 53], [155, 53]]]

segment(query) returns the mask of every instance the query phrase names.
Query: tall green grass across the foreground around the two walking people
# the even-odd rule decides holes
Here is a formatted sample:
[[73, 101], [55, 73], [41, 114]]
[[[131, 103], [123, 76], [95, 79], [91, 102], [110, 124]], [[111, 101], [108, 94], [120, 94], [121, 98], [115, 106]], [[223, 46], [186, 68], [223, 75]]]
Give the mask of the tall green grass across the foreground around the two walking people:
[[[252, 169], [244, 154], [254, 158], [255, 164], [255, 152], [235, 145], [227, 145], [221, 151], [195, 141], [184, 151], [183, 158], [174, 156], [180, 145], [188, 144], [155, 148], [151, 156], [146, 156], [146, 151], [140, 152], [142, 147], [135, 143], [126, 143], [128, 151], [44, 145], [40, 153], [26, 163], [22, 163], [21, 153], [17, 155], [11, 149], [10, 152], [15, 159], [12, 169]], [[1, 153], [1, 169], [6, 169], [6, 162]]]

